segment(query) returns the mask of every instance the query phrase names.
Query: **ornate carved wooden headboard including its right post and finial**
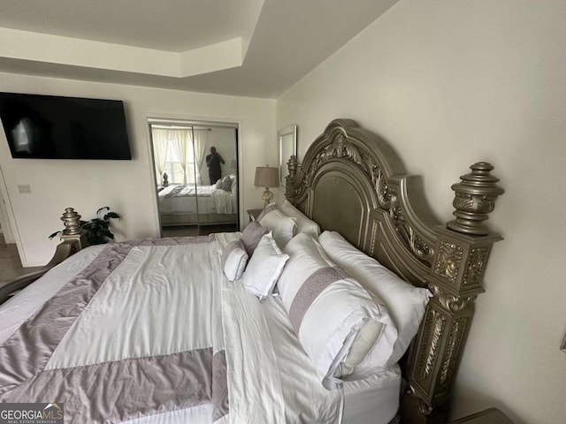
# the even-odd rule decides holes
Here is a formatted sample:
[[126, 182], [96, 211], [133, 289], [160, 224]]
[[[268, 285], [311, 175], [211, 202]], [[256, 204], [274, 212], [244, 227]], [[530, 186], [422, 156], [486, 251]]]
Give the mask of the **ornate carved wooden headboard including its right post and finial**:
[[471, 165], [452, 186], [456, 219], [441, 224], [424, 200], [420, 178], [406, 174], [378, 135], [351, 119], [331, 122], [302, 164], [288, 163], [287, 199], [319, 223], [412, 284], [433, 293], [417, 337], [402, 364], [409, 386], [402, 421], [446, 422], [455, 373], [484, 292], [493, 242], [484, 221], [503, 193], [489, 163]]

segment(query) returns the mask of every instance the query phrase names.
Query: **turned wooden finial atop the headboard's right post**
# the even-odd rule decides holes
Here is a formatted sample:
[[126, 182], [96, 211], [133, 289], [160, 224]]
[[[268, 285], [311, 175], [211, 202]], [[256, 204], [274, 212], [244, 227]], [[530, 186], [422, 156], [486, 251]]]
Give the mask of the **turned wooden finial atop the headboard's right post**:
[[469, 174], [460, 177], [462, 182], [452, 186], [455, 191], [452, 214], [456, 219], [447, 223], [447, 227], [464, 234], [485, 236], [489, 230], [483, 222], [495, 208], [497, 197], [505, 190], [497, 186], [499, 178], [490, 174], [493, 170], [491, 163], [474, 163], [470, 169]]

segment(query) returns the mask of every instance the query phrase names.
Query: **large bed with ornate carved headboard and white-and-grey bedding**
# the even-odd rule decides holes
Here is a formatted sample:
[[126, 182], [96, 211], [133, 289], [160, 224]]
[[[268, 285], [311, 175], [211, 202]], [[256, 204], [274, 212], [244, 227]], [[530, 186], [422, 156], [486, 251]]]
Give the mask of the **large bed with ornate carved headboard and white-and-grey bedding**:
[[[257, 243], [245, 271], [238, 262], [234, 269], [243, 274], [231, 276], [235, 282], [226, 264], [247, 251], [238, 232], [81, 249], [42, 269], [38, 274], [46, 275], [33, 284], [27, 276], [0, 289], [4, 301], [29, 284], [0, 307], [0, 401], [63, 403], [65, 422], [446, 422], [473, 303], [484, 292], [493, 242], [501, 239], [484, 223], [502, 193], [491, 170], [475, 163], [453, 186], [455, 220], [443, 225], [424, 201], [419, 179], [405, 173], [384, 140], [352, 120], [334, 120], [301, 164], [289, 161], [287, 202], [302, 214], [294, 221], [324, 232], [316, 239], [297, 224], [298, 234], [273, 255], [278, 296], [259, 301], [249, 290], [264, 284], [255, 273], [272, 263], [264, 249], [278, 251], [270, 241], [276, 227]], [[279, 214], [288, 222], [290, 216], [272, 208], [257, 228]], [[70, 234], [59, 254], [73, 253], [77, 240]], [[388, 278], [402, 277], [409, 291], [428, 293], [400, 360], [355, 377], [356, 368], [345, 367], [348, 352], [332, 364], [332, 374], [323, 369], [321, 380], [321, 362], [310, 355], [317, 337], [306, 331], [325, 321], [312, 312], [325, 304], [297, 283], [312, 276], [302, 272], [304, 256], [295, 254], [303, 244], [348, 269], [324, 269], [335, 278], [323, 293], [335, 288], [333, 296], [348, 296], [341, 287], [357, 284], [350, 276], [363, 263]], [[272, 283], [271, 273], [265, 278]], [[364, 305], [381, 305], [358, 286]], [[325, 308], [332, 311], [329, 322], [341, 314], [340, 299], [333, 301], [335, 308]], [[388, 316], [386, 308], [381, 313]], [[385, 334], [401, 337], [400, 323], [387, 320], [379, 323], [379, 343]], [[370, 321], [364, 318], [363, 328]], [[348, 337], [356, 342], [358, 335]]]

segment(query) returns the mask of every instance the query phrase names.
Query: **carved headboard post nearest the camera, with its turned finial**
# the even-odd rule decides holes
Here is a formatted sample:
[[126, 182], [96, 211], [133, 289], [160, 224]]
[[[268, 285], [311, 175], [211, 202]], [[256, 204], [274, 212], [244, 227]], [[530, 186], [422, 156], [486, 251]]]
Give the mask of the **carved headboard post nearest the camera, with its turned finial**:
[[455, 220], [438, 228], [428, 279], [433, 297], [410, 352], [402, 422], [447, 422], [448, 401], [470, 331], [474, 300], [485, 292], [486, 263], [493, 243], [501, 240], [484, 224], [495, 200], [504, 193], [497, 186], [499, 178], [491, 175], [490, 163], [474, 163], [470, 169], [452, 186]]

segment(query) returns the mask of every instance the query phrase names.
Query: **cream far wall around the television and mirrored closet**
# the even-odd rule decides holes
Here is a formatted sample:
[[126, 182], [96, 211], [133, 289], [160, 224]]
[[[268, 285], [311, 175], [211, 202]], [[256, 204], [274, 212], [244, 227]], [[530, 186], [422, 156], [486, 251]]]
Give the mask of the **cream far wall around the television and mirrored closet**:
[[[12, 159], [4, 132], [0, 132], [0, 168], [11, 201], [11, 216], [15, 217], [24, 266], [49, 261], [57, 241], [50, 241], [47, 236], [62, 227], [59, 217], [67, 207], [91, 218], [97, 208], [110, 206], [123, 216], [115, 226], [119, 239], [159, 234], [148, 117], [241, 125], [241, 212], [261, 206], [261, 191], [253, 185], [256, 166], [277, 160], [275, 149], [264, 144], [264, 140], [273, 140], [275, 101], [272, 100], [9, 73], [0, 73], [0, 91], [123, 100], [133, 154], [132, 161]], [[21, 184], [30, 185], [32, 193], [20, 194], [18, 185]], [[241, 213], [241, 221], [247, 220]]]

